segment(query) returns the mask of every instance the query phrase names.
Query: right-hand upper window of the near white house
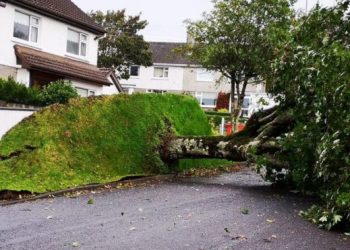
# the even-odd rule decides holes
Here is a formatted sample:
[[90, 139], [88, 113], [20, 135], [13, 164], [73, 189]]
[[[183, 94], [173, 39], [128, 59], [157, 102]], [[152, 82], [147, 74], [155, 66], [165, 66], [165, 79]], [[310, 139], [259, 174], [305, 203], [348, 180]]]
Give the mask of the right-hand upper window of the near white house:
[[77, 56], [86, 56], [87, 51], [86, 34], [68, 29], [67, 52]]

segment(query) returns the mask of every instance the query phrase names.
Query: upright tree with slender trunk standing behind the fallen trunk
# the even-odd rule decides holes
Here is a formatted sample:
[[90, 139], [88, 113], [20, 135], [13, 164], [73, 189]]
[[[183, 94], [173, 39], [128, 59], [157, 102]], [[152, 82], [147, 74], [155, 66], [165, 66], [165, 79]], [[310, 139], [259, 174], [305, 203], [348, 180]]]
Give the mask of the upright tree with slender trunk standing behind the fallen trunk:
[[235, 125], [248, 83], [268, 79], [270, 64], [289, 35], [291, 5], [288, 0], [214, 0], [214, 10], [203, 20], [188, 21], [193, 43], [182, 50], [229, 80]]

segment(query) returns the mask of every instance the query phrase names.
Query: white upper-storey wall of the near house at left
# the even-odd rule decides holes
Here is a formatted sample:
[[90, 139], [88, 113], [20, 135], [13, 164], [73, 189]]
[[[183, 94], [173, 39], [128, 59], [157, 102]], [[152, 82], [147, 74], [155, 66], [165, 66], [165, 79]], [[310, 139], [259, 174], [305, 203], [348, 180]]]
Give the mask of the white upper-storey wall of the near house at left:
[[[13, 37], [16, 10], [40, 18], [38, 43], [28, 42]], [[0, 65], [2, 65], [2, 67], [0, 67], [0, 76], [3, 75], [6, 77], [8, 75], [8, 68], [12, 68], [11, 74], [14, 74], [15, 69], [21, 68], [16, 62], [17, 60], [14, 52], [14, 45], [16, 44], [97, 65], [98, 40], [95, 40], [96, 35], [91, 32], [86, 32], [69, 24], [36, 14], [35, 12], [19, 8], [12, 4], [6, 4], [5, 8], [0, 7], [0, 24]], [[78, 57], [66, 52], [68, 28], [88, 35], [86, 57]], [[17, 77], [16, 80], [29, 85], [28, 71], [26, 72], [26, 70], [23, 70], [22, 72], [16, 72], [15, 75]]]

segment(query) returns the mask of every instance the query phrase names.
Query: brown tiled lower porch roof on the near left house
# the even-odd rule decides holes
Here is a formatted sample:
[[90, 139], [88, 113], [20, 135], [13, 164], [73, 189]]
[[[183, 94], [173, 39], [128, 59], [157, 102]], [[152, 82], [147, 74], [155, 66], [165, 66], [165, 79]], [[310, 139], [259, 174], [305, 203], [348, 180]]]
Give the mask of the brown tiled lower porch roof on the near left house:
[[63, 77], [85, 80], [94, 84], [111, 85], [106, 73], [92, 64], [56, 56], [39, 50], [15, 45], [16, 56], [23, 68]]

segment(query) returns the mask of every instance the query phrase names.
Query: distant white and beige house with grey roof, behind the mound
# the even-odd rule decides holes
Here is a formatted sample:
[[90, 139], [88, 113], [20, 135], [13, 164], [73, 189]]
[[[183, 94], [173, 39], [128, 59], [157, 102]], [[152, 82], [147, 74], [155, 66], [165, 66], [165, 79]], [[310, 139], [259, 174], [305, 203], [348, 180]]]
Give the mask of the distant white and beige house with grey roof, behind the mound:
[[[196, 97], [205, 109], [216, 107], [219, 92], [230, 93], [231, 85], [220, 73], [208, 72], [198, 64], [174, 53], [184, 43], [151, 42], [152, 67], [132, 66], [130, 79], [121, 80], [125, 92], [184, 93]], [[267, 98], [263, 83], [249, 84], [242, 111], [250, 116], [259, 106], [257, 97]]]

